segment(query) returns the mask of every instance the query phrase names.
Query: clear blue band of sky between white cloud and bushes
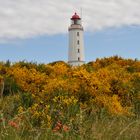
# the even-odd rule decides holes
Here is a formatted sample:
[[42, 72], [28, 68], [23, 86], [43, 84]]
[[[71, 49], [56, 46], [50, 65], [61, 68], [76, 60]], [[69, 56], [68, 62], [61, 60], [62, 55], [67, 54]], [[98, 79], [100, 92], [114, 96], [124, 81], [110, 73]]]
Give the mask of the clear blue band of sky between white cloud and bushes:
[[[140, 59], [140, 26], [85, 32], [84, 42], [87, 62], [113, 55]], [[26, 60], [49, 63], [67, 61], [67, 57], [68, 33], [0, 43], [0, 61], [9, 59], [12, 62]]]

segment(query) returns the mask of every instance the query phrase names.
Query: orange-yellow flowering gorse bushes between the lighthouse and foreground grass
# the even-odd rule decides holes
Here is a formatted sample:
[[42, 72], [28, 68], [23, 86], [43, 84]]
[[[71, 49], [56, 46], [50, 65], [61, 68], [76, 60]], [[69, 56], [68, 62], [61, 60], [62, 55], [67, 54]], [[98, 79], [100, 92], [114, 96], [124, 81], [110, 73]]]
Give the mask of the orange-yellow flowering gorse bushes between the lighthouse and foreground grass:
[[64, 62], [2, 63], [2, 80], [7, 86], [3, 93], [14, 95], [4, 95], [7, 102], [0, 100], [0, 109], [15, 129], [40, 127], [76, 134], [87, 116], [100, 117], [102, 110], [111, 116], [140, 114], [139, 61], [115, 56], [79, 67]]

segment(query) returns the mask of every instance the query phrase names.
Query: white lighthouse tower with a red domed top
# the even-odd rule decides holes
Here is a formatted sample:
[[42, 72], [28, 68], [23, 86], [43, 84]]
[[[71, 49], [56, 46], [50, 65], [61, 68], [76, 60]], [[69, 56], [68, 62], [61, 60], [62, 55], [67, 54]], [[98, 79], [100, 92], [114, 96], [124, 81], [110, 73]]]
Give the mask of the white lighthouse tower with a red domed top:
[[72, 66], [84, 64], [84, 37], [81, 18], [75, 13], [71, 18], [69, 27], [69, 53], [68, 63]]

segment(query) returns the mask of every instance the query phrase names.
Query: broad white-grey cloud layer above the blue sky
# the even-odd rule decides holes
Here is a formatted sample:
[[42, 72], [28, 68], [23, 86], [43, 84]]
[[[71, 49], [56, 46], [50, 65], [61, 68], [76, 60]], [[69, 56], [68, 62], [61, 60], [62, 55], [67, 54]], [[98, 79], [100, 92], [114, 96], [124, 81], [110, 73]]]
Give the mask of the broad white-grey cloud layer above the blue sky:
[[0, 40], [66, 33], [80, 8], [85, 30], [140, 25], [140, 0], [0, 0]]

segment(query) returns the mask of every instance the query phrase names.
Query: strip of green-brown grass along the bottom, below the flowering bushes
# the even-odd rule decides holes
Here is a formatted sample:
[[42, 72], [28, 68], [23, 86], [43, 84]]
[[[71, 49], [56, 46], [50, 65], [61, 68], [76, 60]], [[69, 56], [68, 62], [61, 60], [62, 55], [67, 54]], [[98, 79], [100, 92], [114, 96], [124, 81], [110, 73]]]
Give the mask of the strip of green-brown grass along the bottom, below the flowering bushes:
[[[94, 119], [93, 119], [94, 118]], [[5, 122], [0, 124], [0, 140], [139, 140], [140, 119], [130, 117], [104, 116], [102, 118], [89, 116], [79, 128], [70, 131], [53, 132], [49, 128], [24, 126], [15, 129]]]

